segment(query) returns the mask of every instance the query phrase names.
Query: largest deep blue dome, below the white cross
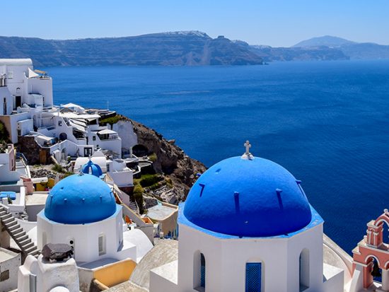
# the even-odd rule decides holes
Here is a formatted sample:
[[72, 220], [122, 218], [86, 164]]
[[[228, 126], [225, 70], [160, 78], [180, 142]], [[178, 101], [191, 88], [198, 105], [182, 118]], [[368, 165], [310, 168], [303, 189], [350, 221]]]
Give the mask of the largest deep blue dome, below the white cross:
[[228, 158], [209, 168], [187, 196], [184, 216], [227, 235], [266, 237], [301, 230], [310, 223], [308, 199], [281, 165], [263, 158]]

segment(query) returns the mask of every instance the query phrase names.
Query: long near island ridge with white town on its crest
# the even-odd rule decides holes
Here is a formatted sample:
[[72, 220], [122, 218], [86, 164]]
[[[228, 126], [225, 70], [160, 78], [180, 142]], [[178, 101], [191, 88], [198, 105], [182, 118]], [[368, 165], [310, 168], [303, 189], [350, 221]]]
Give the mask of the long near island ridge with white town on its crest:
[[0, 37], [0, 58], [25, 57], [35, 66], [262, 64], [257, 54], [231, 40], [198, 31], [79, 40]]

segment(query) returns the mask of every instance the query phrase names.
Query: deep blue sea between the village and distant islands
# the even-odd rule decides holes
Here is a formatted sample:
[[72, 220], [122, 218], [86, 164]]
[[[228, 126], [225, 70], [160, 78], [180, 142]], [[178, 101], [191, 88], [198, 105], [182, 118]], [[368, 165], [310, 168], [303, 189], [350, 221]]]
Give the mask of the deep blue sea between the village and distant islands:
[[250, 140], [255, 156], [303, 181], [325, 233], [349, 253], [389, 208], [388, 60], [47, 71], [57, 105], [109, 107], [207, 166]]

